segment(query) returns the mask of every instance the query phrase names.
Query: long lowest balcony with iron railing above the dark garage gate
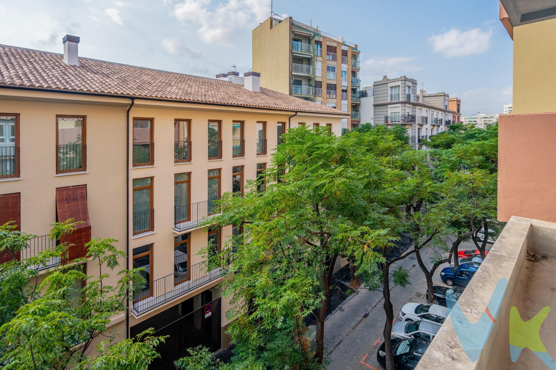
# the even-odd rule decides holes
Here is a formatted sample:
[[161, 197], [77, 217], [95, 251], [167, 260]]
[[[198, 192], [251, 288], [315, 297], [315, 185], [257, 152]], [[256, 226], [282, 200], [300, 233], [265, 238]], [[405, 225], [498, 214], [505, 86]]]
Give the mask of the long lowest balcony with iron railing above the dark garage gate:
[[141, 315], [195, 288], [216, 280], [222, 276], [226, 267], [216, 267], [209, 270], [207, 261], [202, 261], [188, 267], [182, 264], [180, 269], [185, 269], [185, 271], [178, 272], [176, 271], [176, 261], [174, 261], [174, 265], [174, 273], [147, 282], [139, 292], [133, 295], [133, 311], [136, 315]]

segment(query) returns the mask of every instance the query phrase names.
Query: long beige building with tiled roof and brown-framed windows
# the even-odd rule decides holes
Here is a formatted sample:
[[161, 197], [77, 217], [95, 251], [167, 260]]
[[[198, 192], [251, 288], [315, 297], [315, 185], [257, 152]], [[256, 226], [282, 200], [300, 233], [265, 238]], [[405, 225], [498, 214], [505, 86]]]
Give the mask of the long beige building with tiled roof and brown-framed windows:
[[198, 344], [226, 347], [220, 270], [207, 271], [198, 252], [241, 226], [200, 222], [224, 192], [252, 190], [246, 181], [262, 176], [289, 128], [340, 135], [347, 113], [261, 88], [259, 73], [211, 79], [103, 62], [78, 57], [79, 42], [64, 37], [64, 54], [0, 45], [0, 222], [43, 235], [24, 258], [53, 247], [52, 222], [84, 221], [68, 261], [38, 266], [42, 277], [85, 256], [91, 237], [117, 239], [122, 267], [145, 268], [147, 285], [110, 330], [170, 335], [151, 368]]

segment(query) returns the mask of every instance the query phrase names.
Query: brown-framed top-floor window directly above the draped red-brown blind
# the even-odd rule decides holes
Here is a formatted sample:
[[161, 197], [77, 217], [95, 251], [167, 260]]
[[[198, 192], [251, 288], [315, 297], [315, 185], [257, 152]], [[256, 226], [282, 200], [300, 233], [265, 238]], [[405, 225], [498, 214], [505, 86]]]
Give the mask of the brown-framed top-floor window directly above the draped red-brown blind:
[[56, 173], [86, 170], [85, 116], [56, 116]]

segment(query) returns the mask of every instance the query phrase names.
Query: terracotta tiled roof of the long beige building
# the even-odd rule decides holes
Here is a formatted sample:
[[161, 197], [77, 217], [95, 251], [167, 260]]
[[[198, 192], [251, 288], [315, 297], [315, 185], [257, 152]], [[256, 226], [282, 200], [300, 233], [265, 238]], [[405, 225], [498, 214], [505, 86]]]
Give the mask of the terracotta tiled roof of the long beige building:
[[0, 45], [0, 86], [347, 115], [274, 90], [261, 88], [256, 93], [224, 80], [88, 58], [79, 58], [79, 64], [67, 65], [62, 54]]

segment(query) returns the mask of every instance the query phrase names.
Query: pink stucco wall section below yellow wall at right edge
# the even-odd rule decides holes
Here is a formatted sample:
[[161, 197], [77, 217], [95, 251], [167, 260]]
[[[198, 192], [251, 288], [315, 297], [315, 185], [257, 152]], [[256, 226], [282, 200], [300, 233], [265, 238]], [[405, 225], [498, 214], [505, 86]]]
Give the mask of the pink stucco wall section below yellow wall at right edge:
[[556, 113], [500, 114], [498, 220], [556, 222]]

